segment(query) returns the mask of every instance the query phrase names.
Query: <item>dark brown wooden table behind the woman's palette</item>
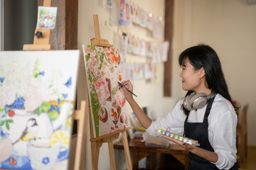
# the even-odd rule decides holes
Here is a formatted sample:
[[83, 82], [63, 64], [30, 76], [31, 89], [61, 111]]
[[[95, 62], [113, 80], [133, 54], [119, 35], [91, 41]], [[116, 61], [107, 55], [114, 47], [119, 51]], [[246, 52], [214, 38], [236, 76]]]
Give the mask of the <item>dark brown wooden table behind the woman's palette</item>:
[[[114, 149], [124, 149], [123, 142], [114, 144]], [[146, 147], [144, 142], [129, 140], [129, 150], [132, 151], [132, 169], [138, 169], [140, 159], [147, 157], [151, 153], [171, 154], [188, 169], [188, 151], [178, 145], [169, 145], [168, 148]]]

